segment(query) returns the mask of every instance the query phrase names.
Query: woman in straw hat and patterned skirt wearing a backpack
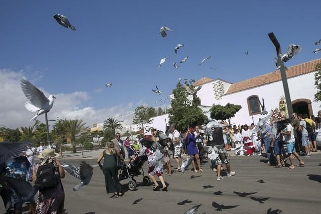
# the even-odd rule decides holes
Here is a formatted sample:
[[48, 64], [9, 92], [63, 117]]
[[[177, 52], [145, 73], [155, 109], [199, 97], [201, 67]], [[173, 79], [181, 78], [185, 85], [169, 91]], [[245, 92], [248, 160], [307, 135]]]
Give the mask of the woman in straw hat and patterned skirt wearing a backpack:
[[[36, 174], [39, 166], [44, 166], [46, 164], [53, 164], [55, 168], [55, 173], [59, 174], [60, 178], [65, 178], [65, 171], [60, 164], [59, 160], [56, 158], [59, 154], [55, 152], [54, 149], [47, 148], [43, 149], [38, 155], [40, 163], [36, 164], [33, 172], [33, 181], [36, 181]], [[64, 204], [65, 204], [65, 192], [62, 182], [60, 181], [58, 185], [49, 188], [39, 190], [36, 201], [36, 214], [63, 214]]]

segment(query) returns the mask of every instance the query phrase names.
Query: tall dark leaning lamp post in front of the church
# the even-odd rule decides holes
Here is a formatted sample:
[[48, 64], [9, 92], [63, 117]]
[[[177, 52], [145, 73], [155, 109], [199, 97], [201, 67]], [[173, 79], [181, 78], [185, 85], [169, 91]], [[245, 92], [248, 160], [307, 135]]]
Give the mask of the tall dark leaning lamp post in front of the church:
[[278, 39], [275, 37], [273, 32], [269, 33], [269, 38], [271, 39], [272, 43], [274, 44], [274, 46], [275, 46], [275, 48], [277, 50], [278, 60], [281, 62], [280, 72], [281, 72], [281, 77], [282, 77], [282, 83], [283, 83], [284, 95], [285, 95], [285, 100], [286, 100], [287, 112], [288, 112], [288, 115], [292, 115], [293, 108], [292, 108], [290, 92], [289, 92], [288, 84], [287, 84], [285, 66], [284, 66], [284, 62], [281, 61], [281, 54], [282, 54], [281, 45], [280, 45]]

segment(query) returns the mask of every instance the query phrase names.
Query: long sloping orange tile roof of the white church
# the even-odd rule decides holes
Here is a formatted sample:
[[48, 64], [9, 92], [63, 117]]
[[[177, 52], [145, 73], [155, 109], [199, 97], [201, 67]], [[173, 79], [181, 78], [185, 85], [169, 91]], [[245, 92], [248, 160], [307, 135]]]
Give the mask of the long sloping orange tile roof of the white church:
[[[292, 66], [287, 69], [286, 77], [291, 78], [313, 72], [315, 71], [316, 64], [318, 63], [321, 63], [321, 59], [316, 59], [296, 66]], [[246, 79], [240, 82], [233, 83], [224, 95], [232, 94], [238, 91], [244, 91], [250, 88], [255, 88], [261, 85], [266, 85], [281, 80], [281, 72], [273, 71], [267, 74], [253, 77], [251, 79]]]

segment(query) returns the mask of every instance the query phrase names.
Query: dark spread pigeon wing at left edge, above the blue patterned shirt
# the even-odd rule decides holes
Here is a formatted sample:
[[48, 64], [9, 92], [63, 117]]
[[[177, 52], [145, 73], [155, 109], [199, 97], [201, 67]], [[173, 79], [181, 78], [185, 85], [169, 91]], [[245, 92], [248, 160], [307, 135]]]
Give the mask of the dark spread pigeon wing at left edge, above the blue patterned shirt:
[[17, 157], [26, 151], [28, 142], [0, 142], [0, 164], [10, 157]]

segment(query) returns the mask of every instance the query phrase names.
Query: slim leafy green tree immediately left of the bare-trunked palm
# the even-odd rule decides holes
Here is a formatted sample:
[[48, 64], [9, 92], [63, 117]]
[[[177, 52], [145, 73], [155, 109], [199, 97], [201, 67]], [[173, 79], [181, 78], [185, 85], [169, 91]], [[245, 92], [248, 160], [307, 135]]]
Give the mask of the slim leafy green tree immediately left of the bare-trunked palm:
[[62, 144], [66, 141], [68, 130], [68, 120], [59, 119], [53, 125], [53, 129], [50, 132], [52, 140], [59, 148], [60, 156], [63, 157]]

